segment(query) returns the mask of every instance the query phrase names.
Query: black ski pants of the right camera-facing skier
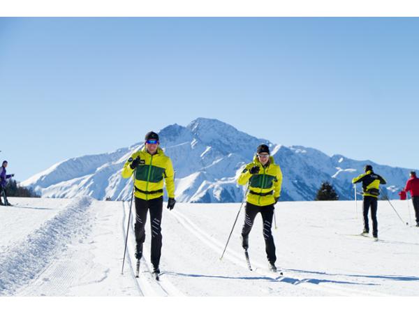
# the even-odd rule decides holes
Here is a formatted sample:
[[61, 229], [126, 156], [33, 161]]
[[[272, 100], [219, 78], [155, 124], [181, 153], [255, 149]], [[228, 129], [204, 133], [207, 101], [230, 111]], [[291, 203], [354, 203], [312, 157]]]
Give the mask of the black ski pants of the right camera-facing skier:
[[253, 227], [253, 221], [256, 218], [256, 215], [260, 213], [263, 220], [263, 238], [265, 239], [265, 251], [267, 255], [267, 260], [270, 262], [275, 262], [277, 256], [275, 255], [275, 244], [274, 237], [272, 237], [272, 217], [274, 216], [274, 205], [267, 206], [257, 206], [246, 203], [246, 216], [244, 217], [244, 225], [242, 229], [242, 237], [249, 237], [251, 227]]

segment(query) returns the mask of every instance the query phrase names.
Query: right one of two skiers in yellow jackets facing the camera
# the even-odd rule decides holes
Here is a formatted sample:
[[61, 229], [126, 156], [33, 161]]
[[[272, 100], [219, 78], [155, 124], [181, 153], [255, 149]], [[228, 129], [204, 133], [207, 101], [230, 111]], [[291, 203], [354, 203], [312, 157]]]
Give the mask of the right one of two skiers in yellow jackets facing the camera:
[[274, 163], [270, 156], [269, 147], [265, 144], [258, 146], [257, 154], [252, 163], [249, 163], [240, 174], [238, 184], [249, 182], [249, 193], [246, 199], [246, 216], [242, 229], [242, 246], [247, 252], [249, 248], [249, 233], [256, 215], [260, 213], [263, 219], [263, 238], [265, 251], [272, 271], [277, 271], [275, 261], [274, 237], [272, 237], [272, 217], [274, 204], [277, 204], [281, 193], [282, 172], [281, 167]]

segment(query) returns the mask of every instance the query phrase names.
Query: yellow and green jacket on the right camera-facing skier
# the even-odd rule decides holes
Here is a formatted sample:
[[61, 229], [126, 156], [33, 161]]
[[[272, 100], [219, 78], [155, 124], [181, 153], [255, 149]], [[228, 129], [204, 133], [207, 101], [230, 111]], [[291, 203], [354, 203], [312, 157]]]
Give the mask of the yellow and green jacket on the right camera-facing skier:
[[[251, 174], [253, 166], [259, 166], [258, 174]], [[249, 193], [246, 201], [257, 206], [267, 206], [275, 203], [275, 198], [281, 194], [282, 172], [281, 167], [274, 163], [270, 156], [269, 163], [263, 167], [256, 156], [253, 163], [249, 163], [240, 174], [237, 183], [244, 186], [249, 181]]]

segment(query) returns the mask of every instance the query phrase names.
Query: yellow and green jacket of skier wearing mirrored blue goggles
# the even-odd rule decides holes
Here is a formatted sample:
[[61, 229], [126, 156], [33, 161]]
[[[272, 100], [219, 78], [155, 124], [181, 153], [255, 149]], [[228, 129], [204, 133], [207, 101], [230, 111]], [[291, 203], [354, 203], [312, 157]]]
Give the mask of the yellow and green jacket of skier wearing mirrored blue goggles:
[[172, 160], [164, 154], [160, 147], [154, 155], [150, 155], [145, 147], [132, 154], [124, 164], [122, 177], [128, 179], [133, 175], [134, 170], [131, 169], [130, 165], [137, 156], [140, 156], [140, 164], [135, 170], [135, 197], [142, 200], [161, 197], [163, 195], [164, 179], [168, 197], [175, 198], [175, 172], [173, 171]]

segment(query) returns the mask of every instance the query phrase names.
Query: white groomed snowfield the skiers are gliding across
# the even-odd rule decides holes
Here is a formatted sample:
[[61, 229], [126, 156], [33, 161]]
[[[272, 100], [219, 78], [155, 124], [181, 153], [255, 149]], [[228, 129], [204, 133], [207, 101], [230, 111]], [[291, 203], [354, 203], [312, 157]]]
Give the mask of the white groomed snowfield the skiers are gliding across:
[[353, 201], [280, 202], [272, 232], [284, 276], [267, 269], [260, 216], [249, 238], [253, 271], [247, 269], [244, 208], [220, 260], [240, 204], [165, 206], [159, 282], [150, 273], [148, 223], [140, 278], [134, 276], [132, 218], [121, 274], [129, 202], [10, 202], [15, 206], [0, 207], [0, 296], [419, 295], [419, 228], [411, 226], [406, 201], [392, 204], [409, 225], [389, 202], [379, 202], [379, 241], [355, 235], [362, 231], [362, 201], [358, 213]]

